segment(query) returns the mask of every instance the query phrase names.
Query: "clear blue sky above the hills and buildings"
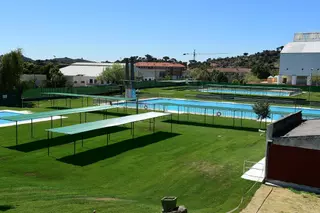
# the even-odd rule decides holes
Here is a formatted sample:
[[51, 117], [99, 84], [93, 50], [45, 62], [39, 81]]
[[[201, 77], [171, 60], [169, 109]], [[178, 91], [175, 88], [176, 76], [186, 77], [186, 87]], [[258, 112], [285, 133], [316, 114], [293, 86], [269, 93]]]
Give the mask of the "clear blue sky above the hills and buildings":
[[[0, 54], [116, 60], [184, 52], [255, 53], [320, 31], [319, 0], [7, 0]], [[226, 55], [198, 57], [203, 60]]]

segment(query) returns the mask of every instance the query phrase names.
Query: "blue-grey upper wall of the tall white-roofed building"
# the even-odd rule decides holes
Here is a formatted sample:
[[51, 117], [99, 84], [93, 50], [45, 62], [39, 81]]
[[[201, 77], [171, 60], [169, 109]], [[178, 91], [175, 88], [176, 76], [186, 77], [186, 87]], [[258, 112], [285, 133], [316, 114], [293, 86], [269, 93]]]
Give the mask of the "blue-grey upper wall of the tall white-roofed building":
[[281, 75], [310, 76], [312, 68], [313, 76], [320, 75], [320, 70], [317, 71], [317, 69], [320, 69], [320, 53], [280, 54]]

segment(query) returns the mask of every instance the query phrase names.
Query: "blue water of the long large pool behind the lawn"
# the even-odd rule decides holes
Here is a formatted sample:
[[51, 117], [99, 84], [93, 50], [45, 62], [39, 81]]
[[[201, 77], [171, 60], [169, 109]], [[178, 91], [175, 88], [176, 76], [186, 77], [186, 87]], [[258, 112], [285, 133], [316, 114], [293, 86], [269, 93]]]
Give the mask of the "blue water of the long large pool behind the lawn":
[[[170, 105], [172, 104], [172, 105]], [[180, 105], [180, 106], [177, 106]], [[188, 105], [188, 107], [184, 107]], [[135, 103], [127, 103], [128, 107], [135, 107]], [[194, 108], [193, 108], [194, 106]], [[208, 106], [211, 109], [197, 108], [197, 107]], [[212, 109], [212, 107], [217, 107]], [[228, 103], [228, 102], [213, 102], [213, 101], [197, 101], [197, 100], [183, 100], [183, 99], [148, 99], [139, 101], [139, 108], [148, 110], [159, 110], [159, 111], [171, 111], [179, 113], [192, 113], [192, 114], [204, 114], [216, 115], [218, 112], [221, 113], [223, 117], [242, 117], [248, 119], [256, 119], [256, 114], [252, 111], [252, 104], [243, 103]], [[238, 111], [234, 111], [238, 110]], [[245, 112], [241, 110], [247, 110]], [[270, 119], [278, 120], [281, 117], [302, 110], [303, 116], [305, 118], [320, 118], [320, 109], [311, 108], [294, 108], [294, 107], [282, 107], [282, 106], [271, 106]]]

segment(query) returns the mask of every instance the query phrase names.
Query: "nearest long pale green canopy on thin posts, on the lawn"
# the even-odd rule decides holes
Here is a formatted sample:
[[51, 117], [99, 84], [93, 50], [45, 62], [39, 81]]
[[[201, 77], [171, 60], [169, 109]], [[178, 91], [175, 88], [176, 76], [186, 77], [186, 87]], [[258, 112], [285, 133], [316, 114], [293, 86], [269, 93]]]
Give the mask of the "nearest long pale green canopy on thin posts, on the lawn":
[[[134, 139], [134, 123], [138, 121], [150, 120], [153, 119], [153, 132], [155, 131], [155, 118], [170, 116], [171, 119], [171, 132], [172, 132], [172, 114], [171, 113], [163, 113], [163, 112], [147, 112], [135, 115], [128, 115], [124, 117], [118, 118], [110, 118], [106, 120], [88, 122], [83, 124], [76, 124], [72, 126], [59, 127], [53, 129], [47, 129], [48, 132], [48, 141], [50, 139], [49, 133], [59, 133], [65, 135], [83, 135], [91, 131], [107, 129], [111, 127], [117, 127], [124, 124], [131, 124], [131, 135], [132, 139]], [[151, 123], [150, 123], [151, 124]], [[107, 134], [107, 145], [109, 142], [109, 133]], [[82, 146], [83, 146], [83, 137], [82, 137]], [[50, 154], [50, 143], [48, 143], [48, 155]], [[74, 140], [74, 155], [76, 153], [76, 140]]]

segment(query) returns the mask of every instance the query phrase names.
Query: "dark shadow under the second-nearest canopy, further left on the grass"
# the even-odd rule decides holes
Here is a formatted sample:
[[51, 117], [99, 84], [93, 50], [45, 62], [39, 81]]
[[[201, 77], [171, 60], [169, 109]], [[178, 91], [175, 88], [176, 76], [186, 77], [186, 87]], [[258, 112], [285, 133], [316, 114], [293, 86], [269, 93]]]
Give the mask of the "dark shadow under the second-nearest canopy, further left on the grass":
[[105, 135], [106, 133], [116, 133], [116, 132], [124, 131], [127, 129], [129, 129], [129, 128], [127, 128], [127, 127], [112, 127], [107, 130], [106, 129], [96, 130], [96, 131], [92, 131], [92, 132], [88, 132], [88, 133], [84, 133], [84, 134], [78, 134], [78, 135], [62, 135], [62, 136], [54, 137], [49, 140], [41, 139], [41, 140], [37, 140], [34, 142], [30, 142], [30, 143], [19, 144], [18, 146], [9, 146], [7, 148], [18, 150], [21, 152], [32, 152], [35, 150], [47, 148], [48, 144], [50, 145], [50, 147], [60, 146], [60, 145], [72, 143], [75, 140], [81, 140], [82, 138], [87, 139], [87, 138], [92, 138], [92, 137], [96, 137], [96, 136], [100, 136], [100, 135]]

